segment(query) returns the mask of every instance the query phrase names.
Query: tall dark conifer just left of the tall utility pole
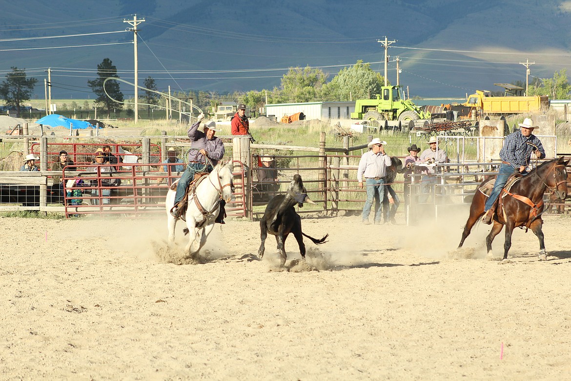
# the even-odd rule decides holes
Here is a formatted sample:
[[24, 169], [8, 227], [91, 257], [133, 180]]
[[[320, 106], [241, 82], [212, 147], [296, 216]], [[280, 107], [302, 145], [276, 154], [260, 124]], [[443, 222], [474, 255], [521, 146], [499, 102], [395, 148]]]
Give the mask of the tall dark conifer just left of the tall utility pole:
[[[123, 107], [123, 93], [121, 93], [119, 89], [118, 81], [114, 79], [107, 81], [105, 83], [105, 89], [103, 89], [103, 82], [107, 78], [119, 78], [119, 75], [117, 75], [117, 68], [108, 58], [104, 58], [103, 61], [97, 65], [97, 75], [99, 78], [87, 81], [87, 85], [89, 85], [91, 91], [97, 95], [95, 103], [107, 109], [107, 118], [109, 118], [111, 109], [121, 109]], [[107, 94], [109, 94], [109, 96], [107, 96]], [[115, 101], [111, 98], [115, 99]]]

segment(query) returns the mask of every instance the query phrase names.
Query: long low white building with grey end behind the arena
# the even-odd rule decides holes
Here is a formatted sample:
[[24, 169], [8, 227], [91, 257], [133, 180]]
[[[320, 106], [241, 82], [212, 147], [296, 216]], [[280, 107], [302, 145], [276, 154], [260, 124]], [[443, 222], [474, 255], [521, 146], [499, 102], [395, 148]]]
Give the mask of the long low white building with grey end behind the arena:
[[355, 102], [305, 102], [266, 105], [266, 116], [274, 115], [278, 121], [284, 115], [303, 113], [305, 119], [349, 119], [355, 111]]

